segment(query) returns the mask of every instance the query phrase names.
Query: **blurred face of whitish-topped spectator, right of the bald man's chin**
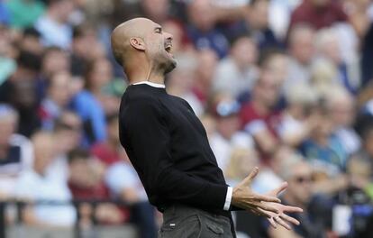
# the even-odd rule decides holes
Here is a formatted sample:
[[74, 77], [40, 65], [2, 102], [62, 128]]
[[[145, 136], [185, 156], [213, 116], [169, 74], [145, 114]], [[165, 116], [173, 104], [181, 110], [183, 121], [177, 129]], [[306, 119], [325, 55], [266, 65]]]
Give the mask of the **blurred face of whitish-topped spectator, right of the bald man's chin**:
[[238, 61], [240, 67], [254, 64], [258, 58], [256, 45], [250, 38], [241, 38], [232, 47], [232, 57]]

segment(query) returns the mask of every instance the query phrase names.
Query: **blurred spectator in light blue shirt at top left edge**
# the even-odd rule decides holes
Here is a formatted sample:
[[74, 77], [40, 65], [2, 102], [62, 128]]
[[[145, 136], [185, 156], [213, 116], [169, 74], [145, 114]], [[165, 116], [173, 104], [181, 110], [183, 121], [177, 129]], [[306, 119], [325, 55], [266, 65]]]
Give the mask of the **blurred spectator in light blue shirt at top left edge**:
[[44, 46], [68, 50], [72, 37], [68, 16], [74, 9], [74, 3], [72, 0], [48, 0], [47, 3], [47, 11], [35, 23], [35, 28], [41, 32]]

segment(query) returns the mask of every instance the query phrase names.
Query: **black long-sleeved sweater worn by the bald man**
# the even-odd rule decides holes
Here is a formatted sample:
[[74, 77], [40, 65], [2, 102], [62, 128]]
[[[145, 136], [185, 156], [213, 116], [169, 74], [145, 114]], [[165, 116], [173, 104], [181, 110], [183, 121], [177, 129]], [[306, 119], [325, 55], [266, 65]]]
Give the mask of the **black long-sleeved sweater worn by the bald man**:
[[223, 211], [227, 185], [205, 128], [187, 101], [165, 88], [127, 87], [120, 108], [120, 139], [150, 203]]

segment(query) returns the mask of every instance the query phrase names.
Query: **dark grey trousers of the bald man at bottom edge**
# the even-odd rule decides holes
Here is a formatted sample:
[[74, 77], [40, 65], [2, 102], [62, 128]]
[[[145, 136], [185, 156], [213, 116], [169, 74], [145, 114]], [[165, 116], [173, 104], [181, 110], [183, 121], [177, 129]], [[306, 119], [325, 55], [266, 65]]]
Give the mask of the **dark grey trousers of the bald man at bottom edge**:
[[[234, 231], [234, 230], [233, 230]], [[231, 219], [203, 210], [174, 205], [163, 213], [159, 238], [232, 238]]]

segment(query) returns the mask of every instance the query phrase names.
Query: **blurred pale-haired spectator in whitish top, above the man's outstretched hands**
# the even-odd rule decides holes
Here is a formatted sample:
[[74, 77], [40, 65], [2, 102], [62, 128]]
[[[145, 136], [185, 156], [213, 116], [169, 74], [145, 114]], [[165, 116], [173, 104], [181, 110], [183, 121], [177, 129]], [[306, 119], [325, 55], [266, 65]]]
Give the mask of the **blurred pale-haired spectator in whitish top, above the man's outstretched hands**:
[[287, 108], [281, 115], [277, 132], [285, 144], [296, 148], [307, 140], [318, 120], [314, 114], [317, 95], [312, 87], [298, 83], [287, 89]]

